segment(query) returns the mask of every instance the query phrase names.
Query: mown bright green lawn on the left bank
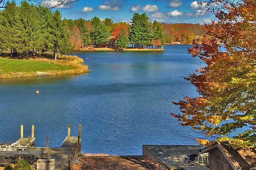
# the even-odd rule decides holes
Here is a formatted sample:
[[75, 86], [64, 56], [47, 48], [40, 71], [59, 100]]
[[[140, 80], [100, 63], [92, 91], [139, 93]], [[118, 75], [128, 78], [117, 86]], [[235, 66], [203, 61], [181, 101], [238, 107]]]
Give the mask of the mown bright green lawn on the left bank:
[[10, 60], [12, 59], [0, 59], [0, 74], [8, 73], [8, 72], [31, 72], [31, 71], [74, 69], [74, 67], [63, 66], [60, 64], [42, 63], [42, 62], [31, 61], [31, 60], [16, 60], [16, 59], [12, 61]]

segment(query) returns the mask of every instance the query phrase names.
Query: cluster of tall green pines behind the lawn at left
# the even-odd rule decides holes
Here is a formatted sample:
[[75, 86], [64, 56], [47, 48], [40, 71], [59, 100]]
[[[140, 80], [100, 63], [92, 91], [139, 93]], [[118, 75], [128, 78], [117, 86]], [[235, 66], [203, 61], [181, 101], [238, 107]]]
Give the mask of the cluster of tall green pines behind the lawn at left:
[[59, 11], [50, 11], [38, 5], [36, 8], [27, 1], [16, 5], [6, 3], [0, 12], [0, 47], [11, 50], [13, 57], [29, 57], [45, 51], [68, 53], [72, 50], [69, 34], [61, 20]]

